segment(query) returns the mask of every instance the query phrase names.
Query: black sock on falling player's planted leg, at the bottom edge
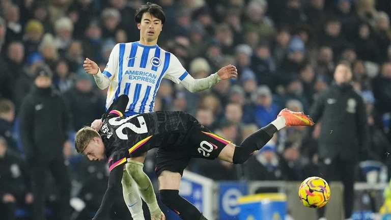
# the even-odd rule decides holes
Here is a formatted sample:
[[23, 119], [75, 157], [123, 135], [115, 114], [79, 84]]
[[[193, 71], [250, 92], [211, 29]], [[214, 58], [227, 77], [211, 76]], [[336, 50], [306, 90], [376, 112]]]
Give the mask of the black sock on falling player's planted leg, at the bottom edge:
[[160, 200], [164, 205], [178, 213], [183, 220], [203, 219], [201, 218], [201, 212], [195, 206], [179, 196], [179, 190], [161, 189]]

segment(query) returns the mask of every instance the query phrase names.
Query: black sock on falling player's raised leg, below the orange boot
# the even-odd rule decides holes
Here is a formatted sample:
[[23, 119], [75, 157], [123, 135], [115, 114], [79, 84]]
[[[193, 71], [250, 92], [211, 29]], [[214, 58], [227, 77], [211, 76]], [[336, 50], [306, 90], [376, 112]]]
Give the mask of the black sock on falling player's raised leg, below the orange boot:
[[245, 162], [254, 151], [260, 150], [268, 141], [270, 141], [277, 128], [268, 124], [249, 135], [244, 141], [235, 148], [233, 163]]

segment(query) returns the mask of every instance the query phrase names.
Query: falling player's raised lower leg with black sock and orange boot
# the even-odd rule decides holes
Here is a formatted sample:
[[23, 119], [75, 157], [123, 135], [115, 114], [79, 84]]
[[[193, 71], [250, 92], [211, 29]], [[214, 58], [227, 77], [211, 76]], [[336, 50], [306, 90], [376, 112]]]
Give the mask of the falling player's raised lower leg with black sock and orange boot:
[[233, 162], [245, 162], [254, 151], [260, 150], [275, 132], [286, 126], [312, 126], [314, 122], [302, 112], [293, 112], [284, 108], [270, 124], [249, 135], [239, 146], [228, 144], [218, 155], [219, 159]]

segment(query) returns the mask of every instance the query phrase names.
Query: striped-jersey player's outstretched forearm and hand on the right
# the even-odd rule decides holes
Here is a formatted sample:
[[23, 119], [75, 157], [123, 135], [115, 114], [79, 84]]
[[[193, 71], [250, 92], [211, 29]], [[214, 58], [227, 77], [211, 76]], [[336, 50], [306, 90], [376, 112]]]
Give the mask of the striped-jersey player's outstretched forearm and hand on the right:
[[194, 79], [191, 75], [187, 75], [181, 84], [190, 92], [200, 92], [210, 89], [219, 81], [238, 77], [238, 70], [233, 65], [228, 65], [219, 69], [216, 73], [202, 79]]

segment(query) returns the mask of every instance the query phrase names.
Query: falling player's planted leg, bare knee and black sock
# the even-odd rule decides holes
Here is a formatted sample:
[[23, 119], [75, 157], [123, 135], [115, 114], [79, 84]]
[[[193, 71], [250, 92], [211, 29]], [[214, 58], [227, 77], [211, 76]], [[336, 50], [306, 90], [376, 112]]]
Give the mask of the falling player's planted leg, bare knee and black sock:
[[207, 220], [191, 203], [179, 196], [181, 174], [162, 171], [158, 177], [161, 202], [175, 211], [183, 220]]

